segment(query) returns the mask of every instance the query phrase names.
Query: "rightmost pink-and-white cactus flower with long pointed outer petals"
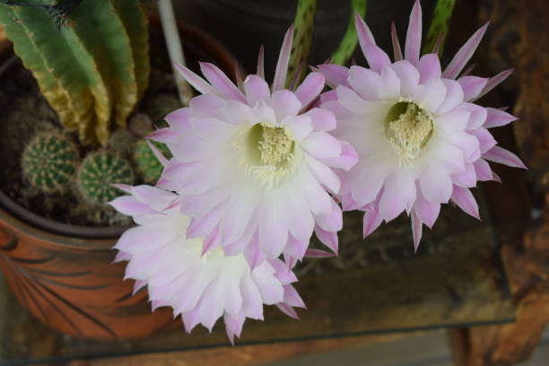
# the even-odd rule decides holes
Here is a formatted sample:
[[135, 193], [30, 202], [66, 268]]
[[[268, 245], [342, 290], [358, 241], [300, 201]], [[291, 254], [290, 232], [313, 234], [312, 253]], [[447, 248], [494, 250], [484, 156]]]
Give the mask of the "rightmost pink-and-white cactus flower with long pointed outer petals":
[[382, 221], [404, 211], [410, 214], [417, 248], [423, 224], [433, 225], [441, 204], [451, 201], [479, 217], [469, 189], [477, 181], [498, 180], [487, 161], [525, 168], [488, 131], [516, 118], [474, 102], [510, 71], [491, 79], [462, 73], [487, 25], [466, 41], [444, 71], [436, 49], [420, 57], [419, 1], [410, 15], [404, 59], [394, 28], [391, 62], [362, 18], [357, 16], [355, 25], [370, 67], [318, 66], [335, 88], [323, 94], [321, 108], [335, 113], [335, 136], [353, 144], [359, 154], [351, 170], [339, 171], [339, 196], [344, 209], [365, 212], [364, 236]]

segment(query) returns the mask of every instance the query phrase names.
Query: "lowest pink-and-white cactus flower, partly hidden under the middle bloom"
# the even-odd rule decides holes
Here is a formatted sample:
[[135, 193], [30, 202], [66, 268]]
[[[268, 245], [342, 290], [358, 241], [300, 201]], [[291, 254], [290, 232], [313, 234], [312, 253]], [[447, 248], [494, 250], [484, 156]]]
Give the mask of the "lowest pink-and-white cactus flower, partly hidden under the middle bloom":
[[147, 286], [153, 309], [170, 306], [174, 318], [181, 315], [187, 333], [198, 324], [211, 331], [223, 318], [232, 343], [246, 318], [263, 319], [263, 304], [277, 305], [293, 318], [292, 307], [305, 307], [291, 284], [297, 279], [282, 260], [269, 259], [252, 269], [242, 254], [223, 253], [215, 243], [219, 235], [188, 239], [190, 218], [180, 213], [177, 194], [150, 186], [117, 187], [129, 195], [110, 204], [138, 225], [115, 246], [117, 261], [129, 261], [125, 278], [135, 280], [135, 292]]

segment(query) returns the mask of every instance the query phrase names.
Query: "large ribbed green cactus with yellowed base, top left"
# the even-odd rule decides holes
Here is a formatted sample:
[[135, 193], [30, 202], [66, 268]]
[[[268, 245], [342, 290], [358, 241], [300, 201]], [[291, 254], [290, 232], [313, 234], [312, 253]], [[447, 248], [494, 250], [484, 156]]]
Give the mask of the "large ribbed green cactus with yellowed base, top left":
[[126, 126], [149, 74], [138, 0], [85, 0], [60, 28], [42, 7], [0, 4], [0, 23], [69, 131], [85, 143], [107, 144], [112, 125]]

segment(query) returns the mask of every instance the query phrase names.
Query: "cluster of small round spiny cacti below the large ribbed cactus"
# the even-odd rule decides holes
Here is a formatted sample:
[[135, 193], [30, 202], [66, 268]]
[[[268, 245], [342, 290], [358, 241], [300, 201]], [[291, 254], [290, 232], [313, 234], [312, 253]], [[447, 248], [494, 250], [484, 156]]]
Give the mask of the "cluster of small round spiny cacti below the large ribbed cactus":
[[[164, 144], [153, 144], [169, 157]], [[30, 140], [22, 154], [22, 172], [32, 187], [44, 193], [61, 192], [74, 181], [88, 203], [104, 205], [121, 194], [113, 184], [134, 184], [136, 175], [146, 183], [160, 178], [162, 165], [149, 144], [141, 139], [132, 150], [134, 153], [128, 156], [114, 148], [100, 149], [80, 161], [80, 153], [70, 136], [40, 133]]]

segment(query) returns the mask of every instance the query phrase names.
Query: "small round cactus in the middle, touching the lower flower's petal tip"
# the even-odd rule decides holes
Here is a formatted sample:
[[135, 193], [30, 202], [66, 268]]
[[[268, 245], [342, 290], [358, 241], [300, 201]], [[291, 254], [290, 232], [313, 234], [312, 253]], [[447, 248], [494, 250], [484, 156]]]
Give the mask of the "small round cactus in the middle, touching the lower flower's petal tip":
[[123, 194], [113, 184], [133, 184], [134, 175], [126, 159], [108, 150], [100, 150], [83, 160], [76, 182], [88, 201], [102, 205]]

